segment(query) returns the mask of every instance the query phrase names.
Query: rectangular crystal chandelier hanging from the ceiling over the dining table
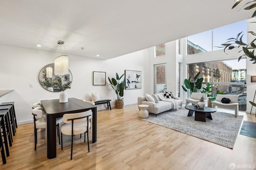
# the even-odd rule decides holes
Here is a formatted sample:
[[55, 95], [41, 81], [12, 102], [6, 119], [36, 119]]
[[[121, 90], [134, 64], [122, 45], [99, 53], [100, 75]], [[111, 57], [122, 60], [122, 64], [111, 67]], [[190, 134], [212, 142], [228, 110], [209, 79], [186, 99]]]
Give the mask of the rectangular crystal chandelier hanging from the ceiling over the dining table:
[[[61, 53], [61, 45], [64, 44], [64, 41], [58, 41], [60, 45], [60, 53]], [[64, 47], [65, 49], [65, 47]], [[66, 53], [66, 50], [65, 50]], [[54, 74], [55, 75], [67, 75], [69, 73], [68, 70], [68, 55], [60, 55], [54, 61]]]

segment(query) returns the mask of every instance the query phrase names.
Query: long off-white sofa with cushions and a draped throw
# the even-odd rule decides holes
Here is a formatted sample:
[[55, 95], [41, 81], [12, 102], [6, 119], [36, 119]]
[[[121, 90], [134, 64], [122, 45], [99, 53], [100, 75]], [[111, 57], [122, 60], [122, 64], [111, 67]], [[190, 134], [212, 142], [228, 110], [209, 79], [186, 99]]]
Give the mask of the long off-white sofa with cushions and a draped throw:
[[[160, 93], [158, 93], [160, 94]], [[178, 97], [175, 97], [176, 99], [172, 99], [172, 100], [175, 100], [176, 103], [178, 103], [178, 107], [181, 107], [183, 101], [178, 98]], [[138, 105], [148, 105], [148, 109], [147, 111], [149, 113], [154, 113], [154, 114], [158, 114], [158, 113], [162, 113], [164, 111], [168, 111], [168, 110], [171, 110], [171, 109], [178, 109], [178, 108], [174, 108], [174, 104], [170, 101], [163, 101], [161, 100], [160, 98], [159, 99], [159, 103], [155, 103], [155, 102], [152, 102], [152, 101], [147, 101], [146, 100], [146, 96], [139, 96], [138, 97]]]

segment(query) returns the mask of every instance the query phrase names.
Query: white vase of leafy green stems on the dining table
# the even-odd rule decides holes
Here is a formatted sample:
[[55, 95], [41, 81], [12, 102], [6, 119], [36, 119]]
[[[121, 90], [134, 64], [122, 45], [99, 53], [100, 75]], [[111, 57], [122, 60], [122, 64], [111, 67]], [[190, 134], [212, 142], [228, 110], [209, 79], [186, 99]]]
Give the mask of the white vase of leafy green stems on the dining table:
[[58, 89], [60, 92], [60, 103], [67, 103], [68, 102], [68, 93], [65, 92], [66, 89], [70, 89], [71, 81], [68, 83], [62, 84], [61, 78], [58, 77], [54, 80], [54, 89]]

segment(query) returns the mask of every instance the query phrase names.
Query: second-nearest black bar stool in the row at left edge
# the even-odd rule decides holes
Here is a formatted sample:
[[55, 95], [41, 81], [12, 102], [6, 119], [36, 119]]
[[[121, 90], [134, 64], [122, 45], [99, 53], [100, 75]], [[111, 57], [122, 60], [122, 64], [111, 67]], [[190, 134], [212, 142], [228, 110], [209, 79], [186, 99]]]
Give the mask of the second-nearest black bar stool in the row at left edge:
[[[10, 127], [9, 123], [10, 119], [8, 119], [8, 110], [1, 110], [0, 111], [0, 117], [1, 117], [1, 128], [2, 128], [2, 134], [4, 136], [4, 146], [5, 146], [5, 151], [6, 151], [6, 156], [10, 156], [9, 153], [9, 146], [12, 146], [12, 139], [11, 139], [11, 132], [10, 132]], [[9, 146], [8, 146], [8, 140], [9, 140]]]

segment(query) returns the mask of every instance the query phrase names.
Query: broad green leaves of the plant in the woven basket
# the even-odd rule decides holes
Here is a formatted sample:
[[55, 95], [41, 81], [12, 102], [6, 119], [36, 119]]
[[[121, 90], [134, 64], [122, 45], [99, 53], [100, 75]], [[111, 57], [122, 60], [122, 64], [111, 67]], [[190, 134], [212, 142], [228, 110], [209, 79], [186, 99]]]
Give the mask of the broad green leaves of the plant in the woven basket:
[[[111, 87], [116, 92], [117, 100], [122, 100], [121, 97], [124, 96], [124, 83], [125, 83], [125, 77], [123, 81], [121, 81], [124, 74], [122, 74], [120, 77], [118, 76], [118, 73], [116, 73], [116, 79], [112, 78], [110, 79], [108, 77], [108, 81], [110, 82]], [[120, 82], [121, 81], [121, 82]]]

